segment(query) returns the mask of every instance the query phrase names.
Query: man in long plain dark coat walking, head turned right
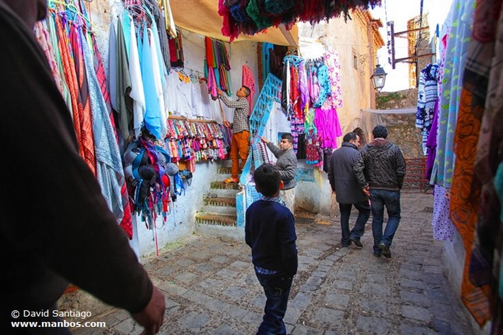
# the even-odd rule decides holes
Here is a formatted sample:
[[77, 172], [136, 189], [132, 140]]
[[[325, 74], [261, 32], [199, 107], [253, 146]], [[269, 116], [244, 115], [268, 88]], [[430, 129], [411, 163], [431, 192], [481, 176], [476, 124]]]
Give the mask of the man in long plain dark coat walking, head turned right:
[[[358, 179], [353, 172], [353, 165], [358, 160], [360, 137], [356, 133], [348, 133], [344, 136], [342, 147], [330, 156], [328, 167], [328, 180], [332, 192], [336, 193], [341, 211], [341, 230], [343, 247], [348, 247], [353, 242], [362, 248], [360, 238], [365, 231], [365, 224], [370, 216], [369, 198], [358, 185]], [[351, 208], [358, 209], [358, 217], [353, 230], [349, 230], [349, 217]]]

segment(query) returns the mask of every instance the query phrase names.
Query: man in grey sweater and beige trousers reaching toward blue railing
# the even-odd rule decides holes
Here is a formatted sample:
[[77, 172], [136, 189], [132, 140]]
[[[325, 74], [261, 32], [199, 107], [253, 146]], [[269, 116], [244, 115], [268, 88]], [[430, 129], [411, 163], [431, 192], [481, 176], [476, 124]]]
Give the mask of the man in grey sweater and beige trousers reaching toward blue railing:
[[295, 155], [295, 151], [293, 151], [293, 136], [287, 133], [281, 135], [279, 148], [265, 137], [261, 139], [278, 159], [276, 161], [276, 166], [280, 171], [281, 180], [283, 181], [283, 188], [280, 191], [280, 195], [293, 214], [295, 208], [295, 186], [297, 185], [297, 181], [295, 180], [297, 156]]

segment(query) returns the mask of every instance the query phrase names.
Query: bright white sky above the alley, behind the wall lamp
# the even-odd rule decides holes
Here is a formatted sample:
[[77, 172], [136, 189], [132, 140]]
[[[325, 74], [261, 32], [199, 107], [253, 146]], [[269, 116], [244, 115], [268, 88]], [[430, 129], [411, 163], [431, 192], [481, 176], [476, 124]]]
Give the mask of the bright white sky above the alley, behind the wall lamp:
[[[433, 23], [436, 26], [436, 23], [439, 23], [441, 26], [451, 4], [452, 0], [424, 0], [423, 14], [429, 13], [430, 24]], [[381, 19], [383, 24], [380, 33], [384, 40], [384, 47], [377, 52], [377, 57], [379, 64], [388, 75], [382, 91], [408, 89], [408, 63], [396, 63], [394, 70], [388, 63], [386, 21], [394, 22], [395, 33], [407, 30], [407, 21], [421, 13], [421, 0], [382, 0], [381, 7], [370, 12], [375, 19]], [[407, 56], [407, 39], [395, 37], [395, 59]]]

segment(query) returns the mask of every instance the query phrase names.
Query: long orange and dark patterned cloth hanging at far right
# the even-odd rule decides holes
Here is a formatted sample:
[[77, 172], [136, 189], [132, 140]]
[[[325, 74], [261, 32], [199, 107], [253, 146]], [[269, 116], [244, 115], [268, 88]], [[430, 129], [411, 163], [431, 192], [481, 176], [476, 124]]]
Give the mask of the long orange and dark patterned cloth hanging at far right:
[[479, 155], [477, 144], [481, 123], [487, 113], [485, 105], [491, 60], [495, 52], [495, 25], [501, 3], [501, 0], [477, 1], [454, 135], [456, 162], [450, 211], [451, 220], [463, 239], [466, 251], [461, 300], [481, 326], [491, 318], [492, 296], [490, 282], [484, 278], [487, 269], [479, 262], [476, 252], [477, 245], [481, 243], [476, 235], [476, 227], [480, 224], [478, 221], [484, 181], [479, 174], [474, 174], [474, 166]]

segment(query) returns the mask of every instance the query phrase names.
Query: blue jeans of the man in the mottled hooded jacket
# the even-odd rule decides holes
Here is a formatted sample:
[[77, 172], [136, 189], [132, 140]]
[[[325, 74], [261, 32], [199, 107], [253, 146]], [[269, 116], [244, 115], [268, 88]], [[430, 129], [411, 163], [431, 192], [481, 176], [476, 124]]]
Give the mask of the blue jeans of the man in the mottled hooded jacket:
[[[370, 203], [372, 206], [372, 234], [374, 235], [374, 253], [381, 254], [377, 247], [379, 243], [384, 243], [390, 247], [396, 229], [400, 222], [400, 191], [389, 191], [383, 189], [370, 189]], [[384, 206], [388, 212], [388, 223], [382, 234], [384, 221]]]

